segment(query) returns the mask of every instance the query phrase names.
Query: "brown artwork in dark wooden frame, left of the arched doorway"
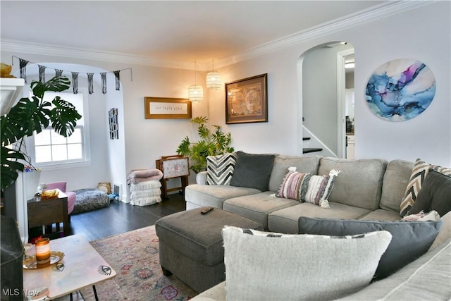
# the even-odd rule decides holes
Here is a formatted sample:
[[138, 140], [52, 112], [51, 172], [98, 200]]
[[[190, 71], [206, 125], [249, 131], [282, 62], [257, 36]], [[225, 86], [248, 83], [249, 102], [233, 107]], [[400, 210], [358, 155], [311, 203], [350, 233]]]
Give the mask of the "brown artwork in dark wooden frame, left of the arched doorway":
[[226, 123], [268, 122], [268, 75], [226, 83]]

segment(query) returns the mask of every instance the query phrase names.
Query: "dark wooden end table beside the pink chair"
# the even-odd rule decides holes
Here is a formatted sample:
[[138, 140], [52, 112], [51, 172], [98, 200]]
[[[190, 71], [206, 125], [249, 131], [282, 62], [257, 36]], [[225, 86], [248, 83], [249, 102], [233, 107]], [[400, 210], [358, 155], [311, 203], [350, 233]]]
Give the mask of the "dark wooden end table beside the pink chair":
[[[57, 189], [58, 190], [58, 189]], [[28, 228], [63, 223], [64, 235], [69, 233], [68, 196], [58, 190], [58, 198], [34, 197], [27, 201]]]

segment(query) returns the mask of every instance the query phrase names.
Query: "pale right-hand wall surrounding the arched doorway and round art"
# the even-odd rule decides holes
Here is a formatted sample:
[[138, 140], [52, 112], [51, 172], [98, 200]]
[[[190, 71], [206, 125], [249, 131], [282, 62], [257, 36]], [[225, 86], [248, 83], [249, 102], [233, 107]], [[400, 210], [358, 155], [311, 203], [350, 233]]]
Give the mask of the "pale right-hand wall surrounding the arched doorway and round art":
[[[302, 116], [302, 95], [298, 89], [302, 85], [302, 73], [297, 72], [297, 61], [312, 47], [347, 41], [355, 48], [355, 139], [359, 141], [356, 158], [409, 161], [421, 158], [451, 166], [450, 4], [441, 1], [423, 6], [220, 69], [228, 81], [268, 73], [268, 123], [228, 126], [234, 145], [248, 152], [299, 154], [297, 140], [302, 137], [298, 135], [297, 122]], [[420, 116], [394, 123], [369, 111], [365, 87], [373, 70], [398, 58], [426, 63], [437, 80], [437, 92]], [[209, 105], [211, 120], [223, 122], [223, 95], [214, 95], [211, 102], [218, 104], [214, 108]]]

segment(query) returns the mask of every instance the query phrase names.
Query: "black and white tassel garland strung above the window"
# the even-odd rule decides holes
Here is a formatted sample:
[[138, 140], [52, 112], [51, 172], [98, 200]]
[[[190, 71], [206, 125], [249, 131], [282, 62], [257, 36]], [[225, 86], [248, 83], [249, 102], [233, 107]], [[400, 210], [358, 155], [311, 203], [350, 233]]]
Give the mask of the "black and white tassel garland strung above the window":
[[[27, 61], [25, 59], [20, 59], [17, 56], [13, 56], [13, 59], [16, 58], [19, 60], [19, 68], [20, 68], [20, 78], [23, 78], [25, 82], [27, 82], [27, 63], [32, 63], [30, 61]], [[12, 59], [12, 61], [13, 61]], [[32, 63], [38, 66], [39, 68], [39, 82], [45, 82], [45, 70], [47, 68], [51, 68], [49, 66], [42, 66], [36, 63]], [[14, 65], [14, 61], [13, 61]], [[54, 68], [51, 68], [54, 69]], [[72, 86], [73, 86], [73, 94], [78, 94], [78, 74], [79, 72], [75, 71], [68, 71], [68, 70], [61, 70], [61, 69], [54, 69], [55, 70], [55, 76], [63, 76], [63, 72], [68, 72], [72, 74]], [[116, 91], [120, 90], [121, 87], [121, 78], [120, 73], [123, 70], [130, 70], [130, 78], [132, 79], [132, 68], [126, 68], [122, 70], [116, 70], [111, 72], [101, 72], [101, 73], [86, 73], [87, 75], [87, 86], [88, 86], [88, 92], [89, 94], [94, 93], [94, 75], [99, 74], [101, 78], [101, 92], [103, 94], [106, 94], [106, 73], [113, 73], [115, 84], [116, 84]]]

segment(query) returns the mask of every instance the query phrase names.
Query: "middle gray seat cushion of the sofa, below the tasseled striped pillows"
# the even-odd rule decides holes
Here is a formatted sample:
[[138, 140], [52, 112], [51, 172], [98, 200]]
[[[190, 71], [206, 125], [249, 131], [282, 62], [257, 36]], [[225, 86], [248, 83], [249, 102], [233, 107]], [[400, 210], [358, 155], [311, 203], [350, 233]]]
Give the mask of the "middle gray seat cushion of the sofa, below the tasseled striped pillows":
[[268, 229], [268, 214], [273, 211], [299, 204], [295, 199], [271, 197], [271, 192], [265, 191], [254, 195], [226, 199], [223, 209], [248, 219], [258, 221]]

